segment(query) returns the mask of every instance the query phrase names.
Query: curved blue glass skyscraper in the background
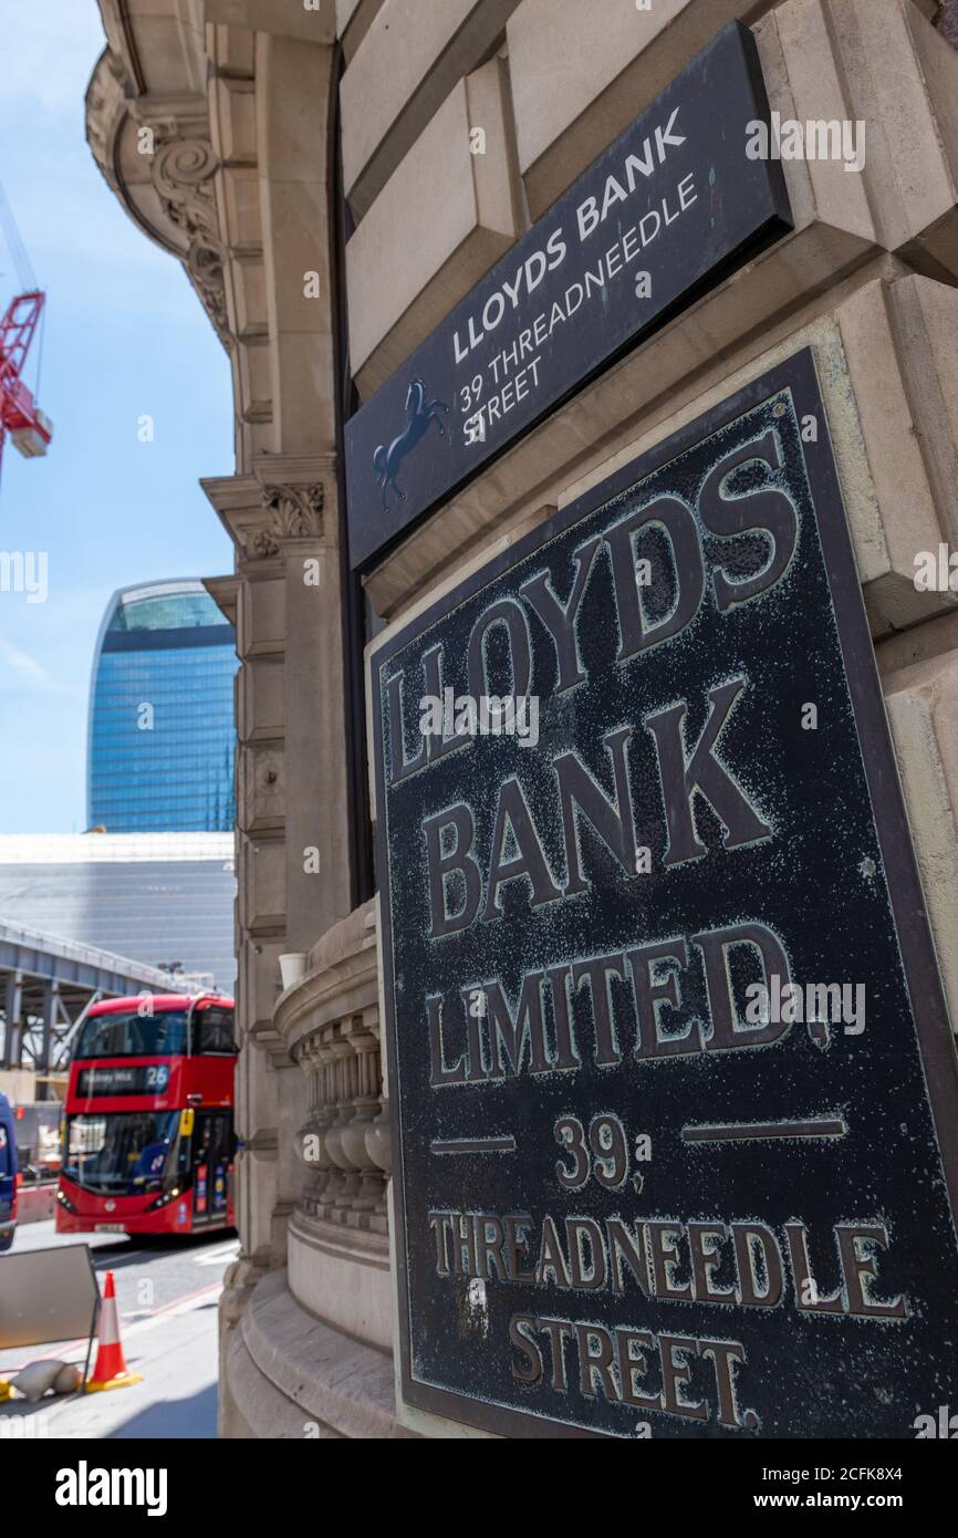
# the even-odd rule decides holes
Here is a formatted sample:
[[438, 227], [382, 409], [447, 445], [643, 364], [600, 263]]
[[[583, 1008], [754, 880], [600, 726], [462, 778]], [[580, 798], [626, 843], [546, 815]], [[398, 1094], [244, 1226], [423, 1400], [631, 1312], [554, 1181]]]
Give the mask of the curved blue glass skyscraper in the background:
[[234, 629], [197, 580], [125, 588], [91, 681], [88, 826], [231, 832]]

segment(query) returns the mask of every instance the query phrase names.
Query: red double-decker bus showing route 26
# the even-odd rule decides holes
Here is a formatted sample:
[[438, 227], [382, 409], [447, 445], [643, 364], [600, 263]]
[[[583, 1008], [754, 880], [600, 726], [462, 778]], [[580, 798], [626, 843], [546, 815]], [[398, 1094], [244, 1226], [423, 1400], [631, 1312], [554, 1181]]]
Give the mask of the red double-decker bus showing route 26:
[[220, 994], [94, 1004], [69, 1067], [57, 1232], [232, 1227], [235, 1055]]

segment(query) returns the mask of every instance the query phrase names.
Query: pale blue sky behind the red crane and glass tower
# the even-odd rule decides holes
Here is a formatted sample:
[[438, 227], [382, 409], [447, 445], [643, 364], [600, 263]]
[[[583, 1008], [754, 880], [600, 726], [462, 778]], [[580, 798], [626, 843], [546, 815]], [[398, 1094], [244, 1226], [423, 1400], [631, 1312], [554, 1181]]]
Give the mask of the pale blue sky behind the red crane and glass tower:
[[[94, 0], [2, 6], [0, 181], [48, 292], [43, 460], [8, 441], [0, 551], [46, 551], [49, 597], [0, 591], [0, 832], [85, 826], [89, 669], [129, 583], [214, 577], [232, 549], [200, 475], [229, 475], [226, 354], [180, 265], [128, 218], [83, 137]], [[0, 243], [0, 308], [15, 269]], [[28, 381], [35, 378], [35, 358]], [[154, 443], [140, 443], [149, 414]]]

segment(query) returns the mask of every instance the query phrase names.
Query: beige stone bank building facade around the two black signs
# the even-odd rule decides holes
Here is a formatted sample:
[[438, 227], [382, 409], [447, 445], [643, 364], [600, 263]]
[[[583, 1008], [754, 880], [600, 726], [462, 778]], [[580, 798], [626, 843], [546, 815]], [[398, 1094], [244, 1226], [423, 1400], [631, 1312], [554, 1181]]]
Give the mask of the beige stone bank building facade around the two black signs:
[[[100, 0], [103, 175], [232, 366], [238, 1212], [226, 1436], [466, 1435], [397, 1404], [364, 649], [617, 464], [813, 349], [958, 1021], [958, 54], [938, 0]], [[343, 424], [729, 20], [783, 118], [792, 231], [601, 371], [395, 548], [344, 549]], [[474, 129], [481, 129], [477, 151]], [[280, 955], [304, 972], [280, 981]], [[318, 1160], [304, 1160], [304, 1140]], [[298, 1152], [297, 1152], [298, 1150]], [[480, 1433], [481, 1435], [481, 1433]]]

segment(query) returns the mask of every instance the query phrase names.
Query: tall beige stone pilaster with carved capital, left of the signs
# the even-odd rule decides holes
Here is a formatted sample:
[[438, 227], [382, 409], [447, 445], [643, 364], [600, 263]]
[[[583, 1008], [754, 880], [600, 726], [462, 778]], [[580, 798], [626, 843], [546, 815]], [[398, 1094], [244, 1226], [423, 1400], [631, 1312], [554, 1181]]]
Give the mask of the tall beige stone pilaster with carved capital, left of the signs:
[[[229, 1332], [263, 1273], [286, 1263], [303, 1181], [297, 1134], [312, 1075], [275, 1029], [278, 957], [309, 952], [348, 914], [352, 883], [328, 208], [332, 34], [283, 35], [272, 8], [214, 12], [209, 117], [238, 474], [205, 489], [237, 551], [241, 658], [237, 1084], [246, 1147], [241, 1255], [221, 1310]], [[225, 1430], [232, 1413], [226, 1406]]]

